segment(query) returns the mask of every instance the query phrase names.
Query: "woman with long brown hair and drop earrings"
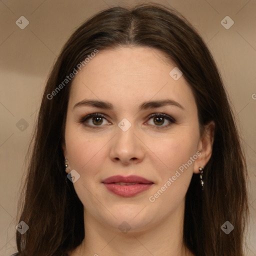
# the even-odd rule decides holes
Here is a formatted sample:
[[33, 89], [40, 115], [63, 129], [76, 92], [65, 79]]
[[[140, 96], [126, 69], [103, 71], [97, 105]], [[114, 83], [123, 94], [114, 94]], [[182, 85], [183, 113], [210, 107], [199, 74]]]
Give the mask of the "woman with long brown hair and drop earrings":
[[108, 8], [50, 72], [16, 255], [244, 255], [246, 175], [197, 32], [163, 5]]

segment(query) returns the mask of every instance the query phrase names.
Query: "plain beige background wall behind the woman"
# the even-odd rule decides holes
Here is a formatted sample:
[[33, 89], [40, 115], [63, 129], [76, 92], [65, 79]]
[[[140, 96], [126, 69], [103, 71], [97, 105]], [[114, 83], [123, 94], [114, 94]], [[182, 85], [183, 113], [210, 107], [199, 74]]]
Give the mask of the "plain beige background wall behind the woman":
[[[136, 2], [139, 1], [131, 0], [125, 5]], [[174, 7], [194, 25], [220, 69], [240, 122], [247, 156], [251, 219], [246, 255], [256, 255], [256, 1], [156, 2]], [[0, 256], [15, 251], [15, 216], [24, 156], [49, 69], [63, 43], [81, 22], [98, 10], [122, 3], [0, 0]], [[220, 23], [226, 15], [234, 21], [229, 29]], [[15, 24], [20, 16], [29, 21], [24, 29]], [[16, 125], [21, 118], [28, 123], [23, 131]]]

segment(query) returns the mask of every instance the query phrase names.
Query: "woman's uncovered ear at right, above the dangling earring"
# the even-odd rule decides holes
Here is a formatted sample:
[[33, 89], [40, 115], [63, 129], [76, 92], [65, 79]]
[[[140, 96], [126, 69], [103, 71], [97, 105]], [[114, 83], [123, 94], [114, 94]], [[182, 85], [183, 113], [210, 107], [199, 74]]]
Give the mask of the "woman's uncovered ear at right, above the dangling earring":
[[212, 153], [212, 145], [214, 139], [215, 123], [210, 121], [204, 125], [204, 130], [198, 143], [197, 150], [200, 152], [198, 158], [194, 161], [193, 173], [199, 173], [199, 167], [203, 167], [207, 164]]

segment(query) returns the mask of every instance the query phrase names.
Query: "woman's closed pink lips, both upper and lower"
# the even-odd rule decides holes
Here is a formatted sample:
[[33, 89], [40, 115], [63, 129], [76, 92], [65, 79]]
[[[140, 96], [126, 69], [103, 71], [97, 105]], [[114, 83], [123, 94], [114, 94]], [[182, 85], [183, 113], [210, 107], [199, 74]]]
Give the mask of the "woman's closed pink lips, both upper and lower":
[[[118, 185], [115, 184], [115, 182], [136, 182], [137, 184]], [[134, 196], [149, 189], [153, 185], [152, 181], [136, 175], [130, 175], [126, 177], [121, 175], [111, 176], [104, 179], [102, 183], [104, 183], [104, 185], [110, 192], [124, 197]]]

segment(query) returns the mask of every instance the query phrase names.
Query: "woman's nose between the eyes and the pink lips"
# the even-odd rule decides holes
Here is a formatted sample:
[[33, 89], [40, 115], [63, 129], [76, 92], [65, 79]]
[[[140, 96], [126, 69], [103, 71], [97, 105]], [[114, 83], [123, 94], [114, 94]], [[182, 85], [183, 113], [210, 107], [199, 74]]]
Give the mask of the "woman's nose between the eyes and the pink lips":
[[140, 140], [138, 132], [131, 125], [126, 131], [117, 127], [117, 133], [111, 140], [109, 156], [112, 161], [123, 165], [138, 163], [143, 160], [145, 145]]

